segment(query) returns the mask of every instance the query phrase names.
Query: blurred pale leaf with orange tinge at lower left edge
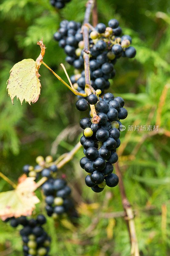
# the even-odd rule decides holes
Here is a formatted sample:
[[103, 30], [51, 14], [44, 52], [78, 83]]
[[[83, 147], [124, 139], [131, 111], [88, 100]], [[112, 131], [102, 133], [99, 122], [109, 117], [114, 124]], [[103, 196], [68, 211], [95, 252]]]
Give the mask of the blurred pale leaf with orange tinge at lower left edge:
[[23, 174], [18, 180], [16, 189], [0, 193], [0, 218], [2, 220], [32, 214], [35, 204], [39, 203], [34, 193], [37, 188], [34, 179], [34, 177], [27, 177]]

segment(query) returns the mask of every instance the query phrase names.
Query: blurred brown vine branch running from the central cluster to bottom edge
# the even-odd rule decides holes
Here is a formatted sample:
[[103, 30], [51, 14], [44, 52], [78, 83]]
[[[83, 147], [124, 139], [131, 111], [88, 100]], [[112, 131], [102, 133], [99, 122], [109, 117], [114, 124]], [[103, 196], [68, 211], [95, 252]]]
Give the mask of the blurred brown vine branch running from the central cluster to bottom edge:
[[129, 203], [126, 197], [126, 192], [123, 184], [123, 177], [122, 177], [122, 173], [119, 168], [118, 162], [115, 164], [115, 169], [116, 169], [116, 174], [119, 177], [120, 195], [122, 197], [122, 205], [125, 212], [125, 220], [127, 222], [130, 241], [131, 241], [131, 256], [139, 256], [138, 240], [137, 240], [136, 231], [135, 231], [134, 214], [133, 214], [131, 204]]

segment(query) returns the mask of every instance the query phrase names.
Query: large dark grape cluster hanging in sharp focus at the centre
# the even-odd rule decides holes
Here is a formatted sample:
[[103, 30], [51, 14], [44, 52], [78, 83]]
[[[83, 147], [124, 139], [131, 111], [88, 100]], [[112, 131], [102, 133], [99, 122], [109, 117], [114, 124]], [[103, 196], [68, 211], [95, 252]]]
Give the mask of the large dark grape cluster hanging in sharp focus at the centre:
[[106, 185], [115, 187], [119, 182], [118, 176], [112, 173], [112, 164], [118, 160], [116, 149], [120, 146], [119, 119], [125, 119], [128, 113], [123, 108], [124, 100], [121, 97], [114, 98], [110, 92], [104, 94], [103, 99], [100, 98], [99, 101], [95, 94], [90, 94], [85, 101], [85, 99], [77, 100], [78, 110], [86, 110], [88, 103], [96, 104], [96, 113], [100, 117], [100, 122], [92, 123], [91, 111], [89, 113], [91, 120], [88, 117], [80, 120], [80, 126], [84, 129], [80, 142], [85, 154], [80, 160], [80, 166], [88, 172], [85, 178], [86, 185], [94, 192], [101, 192]]

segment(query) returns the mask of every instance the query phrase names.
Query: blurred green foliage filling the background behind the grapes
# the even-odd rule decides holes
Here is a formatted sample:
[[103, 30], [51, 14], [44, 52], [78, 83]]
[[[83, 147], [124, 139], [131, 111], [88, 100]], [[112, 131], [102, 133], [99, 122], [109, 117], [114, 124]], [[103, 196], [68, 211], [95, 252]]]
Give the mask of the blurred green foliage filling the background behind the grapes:
[[[77, 124], [84, 113], [75, 109], [75, 96], [43, 65], [39, 70], [42, 89], [38, 102], [21, 106], [14, 99], [12, 105], [6, 92], [9, 71], [24, 58], [35, 60], [39, 55], [36, 42], [44, 37], [46, 64], [66, 79], [60, 67], [62, 62], [72, 75], [73, 68], [65, 63], [65, 53], [53, 40], [53, 33], [62, 18], [82, 21], [85, 3], [72, 0], [58, 13], [48, 0], [1, 1], [0, 171], [15, 182], [24, 164], [35, 165], [36, 156], [50, 154], [57, 136], [59, 146], [56, 150], [53, 144], [54, 158], [73, 148], [81, 136], [77, 136], [77, 129], [81, 133]], [[167, 256], [170, 255], [170, 90], [165, 93], [165, 85], [168, 88], [170, 73], [169, 1], [97, 0], [97, 4], [99, 21], [107, 24], [113, 17], [118, 19], [124, 34], [132, 36], [132, 45], [137, 49], [135, 60], [123, 58], [117, 62], [117, 75], [109, 89], [126, 101], [129, 114], [123, 124], [155, 125], [163, 90], [166, 96], [161, 105], [158, 134], [127, 132], [127, 129], [121, 133], [120, 167], [127, 197], [136, 212], [140, 255]], [[119, 188], [106, 188], [99, 195], [87, 188], [85, 173], [79, 166], [82, 156], [81, 149], [61, 170], [73, 188], [80, 218], [74, 228], [68, 223], [54, 226], [48, 218], [46, 229], [53, 238], [50, 255], [128, 256], [130, 243], [124, 219], [102, 215], [123, 210]], [[11, 189], [4, 180], [0, 180], [0, 188]], [[37, 208], [40, 211], [44, 212], [42, 204]], [[85, 233], [96, 217], [99, 217], [96, 227]], [[0, 255], [22, 255], [18, 230], [2, 221], [0, 225]]]

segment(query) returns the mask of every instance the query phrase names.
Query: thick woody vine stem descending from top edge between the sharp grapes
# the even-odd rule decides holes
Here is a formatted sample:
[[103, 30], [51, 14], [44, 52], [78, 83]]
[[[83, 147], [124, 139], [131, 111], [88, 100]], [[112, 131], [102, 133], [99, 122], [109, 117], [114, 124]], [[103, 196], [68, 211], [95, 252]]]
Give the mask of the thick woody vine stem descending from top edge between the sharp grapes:
[[[92, 12], [92, 9], [94, 7], [94, 0], [89, 0], [86, 5], [86, 12], [84, 15], [84, 22], [82, 26], [82, 32], [83, 32], [83, 41], [84, 41], [84, 70], [85, 70], [85, 92], [89, 96], [92, 93], [96, 94], [96, 91], [93, 89], [93, 87], [90, 85], [90, 51], [89, 51], [89, 20], [90, 20], [90, 14]], [[100, 117], [96, 114], [95, 105], [90, 105], [91, 113], [93, 116], [92, 122], [94, 124], [98, 124], [100, 122]]]

